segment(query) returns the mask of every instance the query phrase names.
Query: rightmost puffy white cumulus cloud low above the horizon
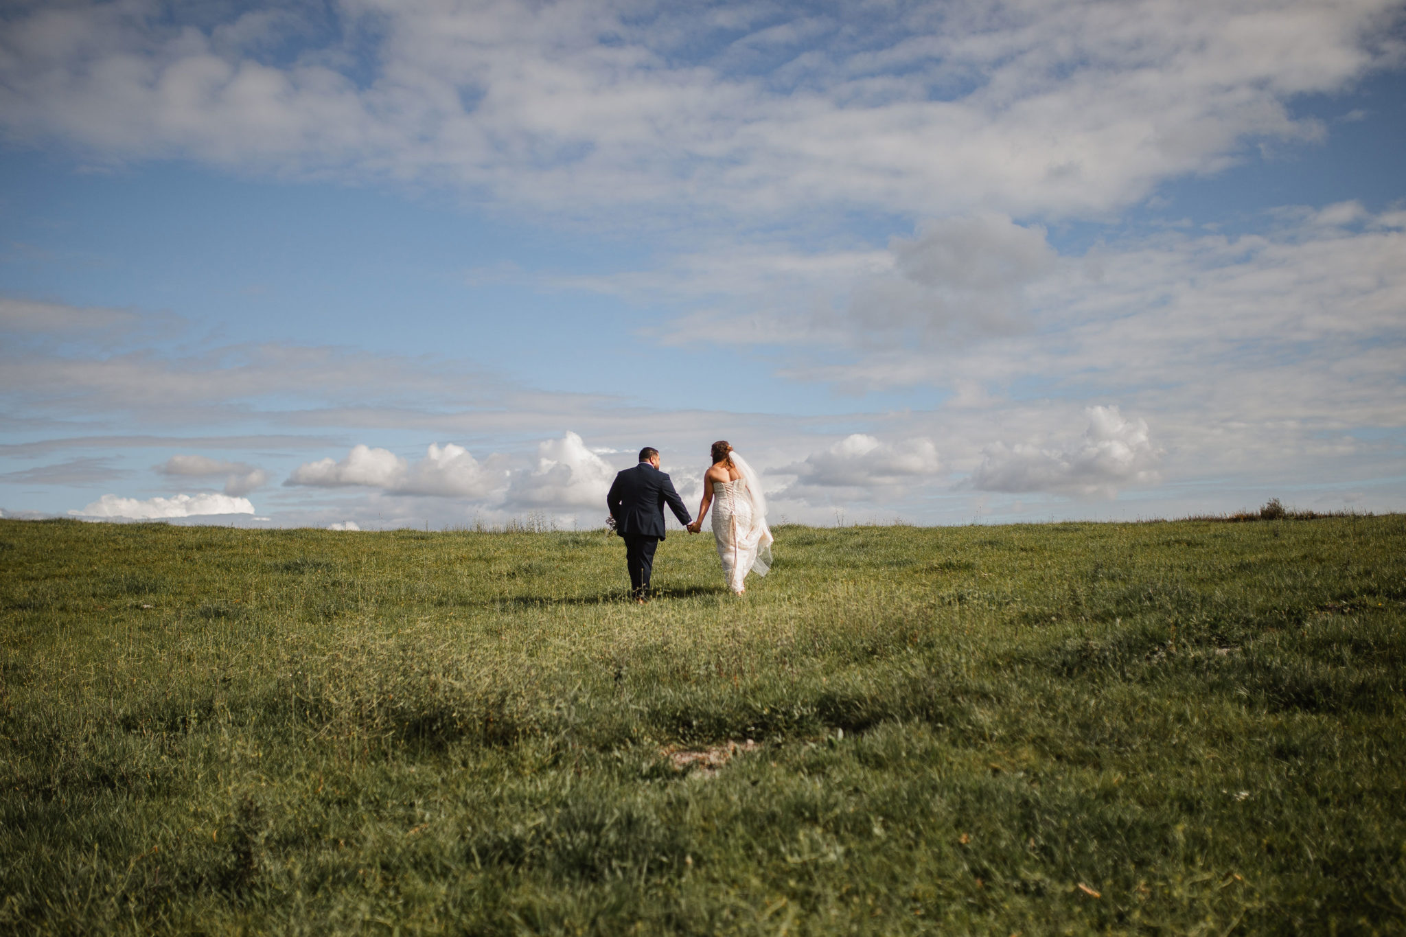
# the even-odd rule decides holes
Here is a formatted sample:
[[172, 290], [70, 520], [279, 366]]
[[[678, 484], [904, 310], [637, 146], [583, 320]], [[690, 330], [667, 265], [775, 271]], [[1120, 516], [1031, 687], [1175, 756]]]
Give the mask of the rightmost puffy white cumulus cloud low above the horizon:
[[1116, 406], [1094, 406], [1084, 413], [1088, 428], [1073, 445], [987, 447], [970, 485], [986, 492], [1114, 497], [1121, 487], [1157, 480], [1161, 451], [1153, 445], [1146, 420], [1129, 420]]

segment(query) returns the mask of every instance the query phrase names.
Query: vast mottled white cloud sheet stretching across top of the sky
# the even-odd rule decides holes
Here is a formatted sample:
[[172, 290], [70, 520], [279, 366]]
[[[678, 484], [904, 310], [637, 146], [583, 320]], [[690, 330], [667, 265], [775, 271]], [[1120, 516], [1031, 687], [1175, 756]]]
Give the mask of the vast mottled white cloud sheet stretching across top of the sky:
[[[1393, 0], [333, 7], [321, 34], [364, 56], [309, 45], [283, 7], [229, 10], [34, 4], [0, 30], [0, 124], [100, 159], [447, 183], [631, 223], [699, 204], [1087, 215], [1249, 139], [1322, 135], [1285, 101], [1400, 56]], [[276, 58], [290, 37], [301, 55]]]

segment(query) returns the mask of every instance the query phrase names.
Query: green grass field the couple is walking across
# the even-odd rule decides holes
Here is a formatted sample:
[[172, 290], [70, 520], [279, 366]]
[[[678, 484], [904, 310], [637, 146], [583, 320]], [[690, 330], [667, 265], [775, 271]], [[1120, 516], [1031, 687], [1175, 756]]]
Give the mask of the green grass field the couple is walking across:
[[1406, 933], [1406, 517], [623, 552], [0, 521], [0, 930]]

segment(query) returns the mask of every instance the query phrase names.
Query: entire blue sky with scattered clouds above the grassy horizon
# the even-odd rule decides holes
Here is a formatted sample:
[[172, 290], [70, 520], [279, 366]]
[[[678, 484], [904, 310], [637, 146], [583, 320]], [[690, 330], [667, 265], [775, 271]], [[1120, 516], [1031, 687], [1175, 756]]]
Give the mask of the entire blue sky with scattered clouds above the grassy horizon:
[[1406, 507], [1406, 6], [34, 3], [0, 509]]

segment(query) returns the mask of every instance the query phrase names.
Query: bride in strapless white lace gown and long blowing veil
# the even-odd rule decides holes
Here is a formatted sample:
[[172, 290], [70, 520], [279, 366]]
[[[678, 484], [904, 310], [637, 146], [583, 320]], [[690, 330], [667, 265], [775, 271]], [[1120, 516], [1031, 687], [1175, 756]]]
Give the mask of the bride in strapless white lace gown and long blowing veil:
[[699, 504], [697, 520], [689, 524], [689, 532], [697, 534], [703, 528], [710, 504], [723, 579], [741, 596], [747, 591], [748, 572], [765, 576], [770, 569], [772, 531], [766, 527], [762, 480], [725, 440], [713, 444], [713, 465], [703, 475], [703, 503]]

